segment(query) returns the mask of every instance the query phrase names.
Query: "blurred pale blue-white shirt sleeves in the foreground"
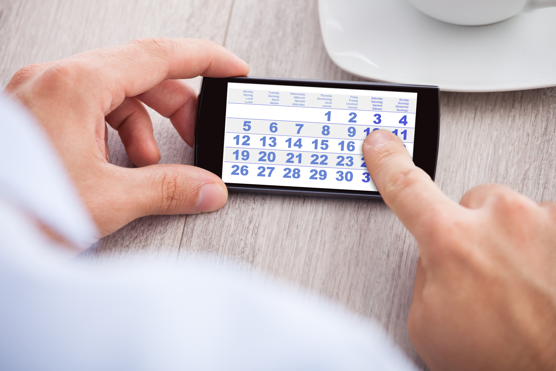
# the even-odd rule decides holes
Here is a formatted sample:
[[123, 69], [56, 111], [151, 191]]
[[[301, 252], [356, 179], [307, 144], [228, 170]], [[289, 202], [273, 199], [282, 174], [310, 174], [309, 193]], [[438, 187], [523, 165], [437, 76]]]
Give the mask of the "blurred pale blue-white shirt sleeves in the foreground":
[[0, 129], [1, 369], [416, 369], [377, 325], [231, 265], [67, 263], [28, 215], [82, 245], [91, 217], [39, 126], [1, 95]]

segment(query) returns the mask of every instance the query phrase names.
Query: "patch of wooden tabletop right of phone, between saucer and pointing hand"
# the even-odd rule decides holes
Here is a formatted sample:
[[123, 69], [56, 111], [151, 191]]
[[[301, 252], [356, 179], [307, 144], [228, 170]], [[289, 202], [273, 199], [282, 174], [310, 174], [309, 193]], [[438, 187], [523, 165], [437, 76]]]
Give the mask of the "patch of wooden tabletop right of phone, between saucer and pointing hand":
[[556, 88], [440, 96], [436, 183], [453, 200], [500, 183], [556, 200]]

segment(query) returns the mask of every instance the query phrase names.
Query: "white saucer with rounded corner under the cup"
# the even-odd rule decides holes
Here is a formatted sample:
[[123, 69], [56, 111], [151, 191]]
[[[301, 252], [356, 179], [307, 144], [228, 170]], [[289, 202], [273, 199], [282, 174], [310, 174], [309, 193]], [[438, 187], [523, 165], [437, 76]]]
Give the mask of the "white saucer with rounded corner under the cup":
[[369, 80], [469, 92], [556, 86], [556, 8], [474, 27], [405, 0], [319, 0], [319, 15], [332, 61]]

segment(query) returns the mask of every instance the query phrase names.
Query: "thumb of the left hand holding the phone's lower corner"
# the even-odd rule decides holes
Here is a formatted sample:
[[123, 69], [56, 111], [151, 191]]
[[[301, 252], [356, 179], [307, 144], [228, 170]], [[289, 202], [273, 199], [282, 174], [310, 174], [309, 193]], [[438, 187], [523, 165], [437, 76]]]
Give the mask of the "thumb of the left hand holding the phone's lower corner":
[[109, 179], [105, 177], [102, 197], [91, 195], [95, 202], [87, 202], [103, 235], [141, 216], [215, 211], [228, 199], [224, 182], [200, 167], [167, 164], [128, 169], [106, 165], [111, 171]]

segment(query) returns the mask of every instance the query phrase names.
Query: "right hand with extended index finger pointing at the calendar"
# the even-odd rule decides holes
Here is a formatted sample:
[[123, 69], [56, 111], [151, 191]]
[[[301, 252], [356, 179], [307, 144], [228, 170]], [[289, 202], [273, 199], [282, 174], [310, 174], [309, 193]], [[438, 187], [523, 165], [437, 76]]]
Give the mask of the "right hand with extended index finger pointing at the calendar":
[[408, 328], [429, 368], [556, 369], [556, 204], [487, 184], [457, 205], [385, 130], [363, 154], [419, 243]]

